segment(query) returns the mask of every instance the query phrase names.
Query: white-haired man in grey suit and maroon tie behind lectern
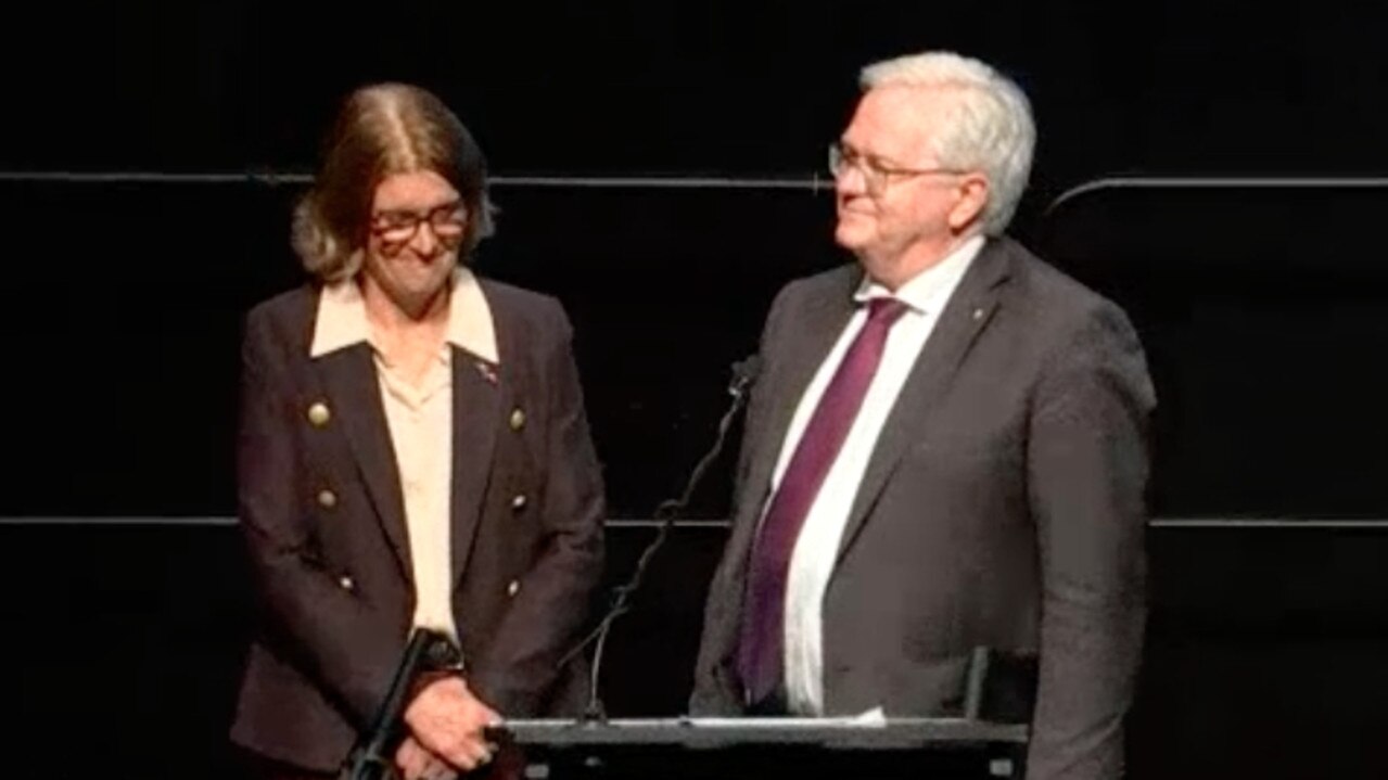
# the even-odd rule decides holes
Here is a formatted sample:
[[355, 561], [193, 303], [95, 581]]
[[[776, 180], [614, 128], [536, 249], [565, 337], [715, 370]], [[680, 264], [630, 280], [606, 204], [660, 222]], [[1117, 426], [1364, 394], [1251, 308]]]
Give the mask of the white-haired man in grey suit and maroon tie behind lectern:
[[762, 334], [695, 715], [1031, 716], [1029, 777], [1116, 777], [1142, 643], [1141, 346], [1004, 237], [1035, 130], [988, 65], [869, 67], [830, 151], [858, 262], [781, 290]]

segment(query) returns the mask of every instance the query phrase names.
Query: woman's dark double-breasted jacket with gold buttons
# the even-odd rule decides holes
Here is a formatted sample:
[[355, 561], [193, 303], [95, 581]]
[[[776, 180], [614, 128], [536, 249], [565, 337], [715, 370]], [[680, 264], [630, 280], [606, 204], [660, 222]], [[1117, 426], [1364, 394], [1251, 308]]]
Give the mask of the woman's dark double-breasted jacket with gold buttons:
[[[586, 673], [558, 661], [601, 576], [604, 504], [569, 322], [551, 298], [480, 283], [500, 364], [451, 347], [465, 676], [504, 716], [577, 713]], [[333, 770], [390, 686], [414, 586], [371, 347], [311, 359], [318, 297], [286, 293], [246, 322], [240, 522], [261, 611], [232, 737]]]

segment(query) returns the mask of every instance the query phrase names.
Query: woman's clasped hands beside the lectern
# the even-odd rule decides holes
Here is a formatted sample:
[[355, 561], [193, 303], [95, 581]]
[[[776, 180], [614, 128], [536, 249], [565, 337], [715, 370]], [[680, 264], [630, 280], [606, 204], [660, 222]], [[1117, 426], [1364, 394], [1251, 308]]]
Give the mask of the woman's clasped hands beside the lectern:
[[405, 708], [405, 724], [419, 747], [461, 772], [491, 761], [494, 747], [482, 730], [500, 723], [501, 716], [454, 676], [429, 683]]

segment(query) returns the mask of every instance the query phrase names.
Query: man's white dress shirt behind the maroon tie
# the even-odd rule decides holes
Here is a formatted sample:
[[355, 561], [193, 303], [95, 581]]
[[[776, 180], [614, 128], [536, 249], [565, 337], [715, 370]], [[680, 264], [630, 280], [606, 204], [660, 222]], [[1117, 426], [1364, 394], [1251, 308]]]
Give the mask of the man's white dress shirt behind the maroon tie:
[[[983, 248], [983, 236], [970, 237], [944, 260], [902, 285], [895, 296], [869, 279], [865, 279], [854, 294], [859, 303], [874, 297], [895, 297], [906, 304], [906, 312], [892, 325], [887, 336], [886, 351], [877, 372], [873, 375], [872, 384], [867, 387], [867, 394], [863, 397], [863, 404], [848, 430], [838, 457], [824, 476], [824, 483], [809, 508], [791, 554], [786, 582], [784, 672], [790, 711], [795, 715], [813, 716], [822, 715], [824, 711], [822, 630], [824, 590], [838, 555], [844, 526], [848, 523], [848, 512], [858, 494], [863, 472], [867, 470], [867, 461], [916, 357], [934, 330], [949, 296], [958, 287], [979, 250]], [[776, 459], [776, 470], [772, 476], [773, 491], [780, 486], [791, 454], [805, 433], [805, 426], [809, 425], [809, 418], [819, 405], [824, 387], [838, 369], [844, 353], [848, 351], [849, 344], [867, 321], [866, 308], [861, 307], [848, 321], [834, 348], [829, 351], [795, 407], [795, 416], [791, 418], [790, 429], [786, 432], [786, 440], [781, 443], [780, 455]], [[769, 504], [770, 501], [768, 501]], [[762, 511], [765, 512], [765, 507]], [[870, 641], [870, 638], [865, 637], [865, 641]]]

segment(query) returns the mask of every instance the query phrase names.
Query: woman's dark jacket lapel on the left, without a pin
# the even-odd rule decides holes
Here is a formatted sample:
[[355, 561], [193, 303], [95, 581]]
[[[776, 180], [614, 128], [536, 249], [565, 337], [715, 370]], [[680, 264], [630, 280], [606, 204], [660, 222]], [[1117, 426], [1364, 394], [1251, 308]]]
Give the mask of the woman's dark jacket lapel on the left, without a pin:
[[396, 551], [407, 582], [414, 582], [409, 539], [405, 530], [405, 501], [400, 490], [400, 469], [390, 440], [390, 425], [380, 400], [380, 382], [371, 347], [365, 343], [318, 358], [328, 389], [332, 414], [341, 419], [343, 430], [357, 458], [357, 468], [366, 484], [390, 547]]

